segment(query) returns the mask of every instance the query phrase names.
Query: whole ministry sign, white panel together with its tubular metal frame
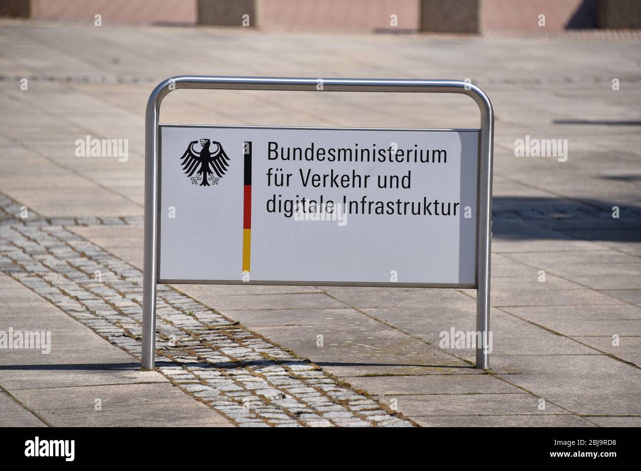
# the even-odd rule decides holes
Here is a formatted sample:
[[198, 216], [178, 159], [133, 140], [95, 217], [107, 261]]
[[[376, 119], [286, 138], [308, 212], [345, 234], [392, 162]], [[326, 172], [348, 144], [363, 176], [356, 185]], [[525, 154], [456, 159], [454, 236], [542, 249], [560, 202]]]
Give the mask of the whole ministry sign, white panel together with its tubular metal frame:
[[[481, 126], [160, 125], [162, 100], [183, 88], [460, 93]], [[255, 283], [474, 288], [476, 367], [487, 369], [493, 147], [492, 103], [468, 81], [162, 81], [145, 120], [140, 365], [155, 364], [157, 283]]]

